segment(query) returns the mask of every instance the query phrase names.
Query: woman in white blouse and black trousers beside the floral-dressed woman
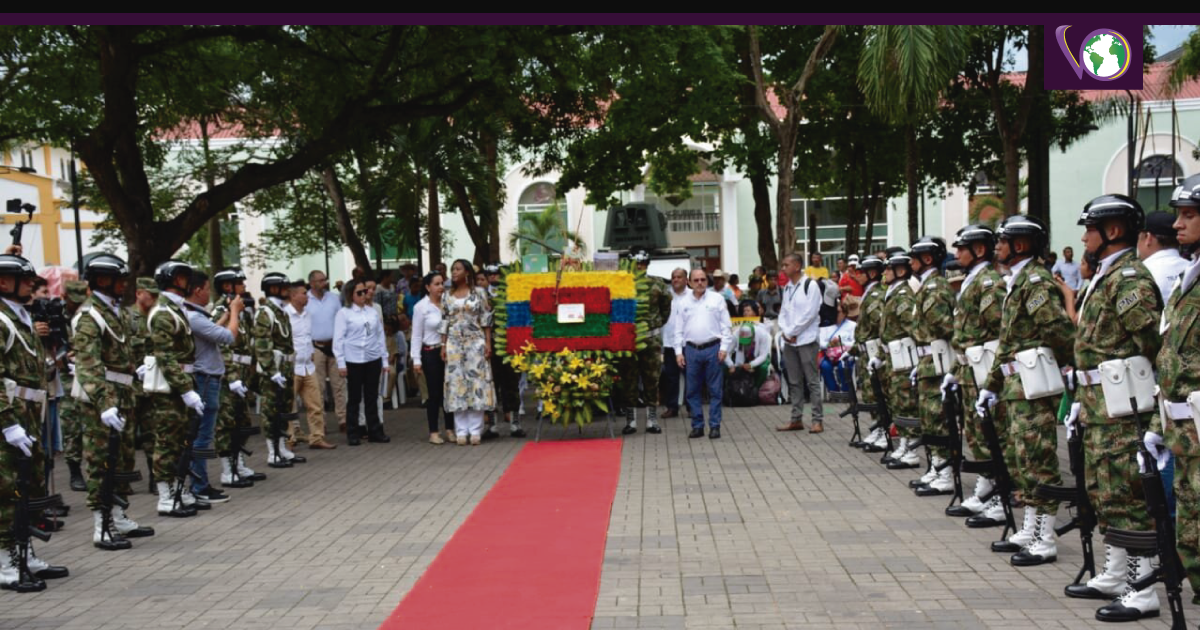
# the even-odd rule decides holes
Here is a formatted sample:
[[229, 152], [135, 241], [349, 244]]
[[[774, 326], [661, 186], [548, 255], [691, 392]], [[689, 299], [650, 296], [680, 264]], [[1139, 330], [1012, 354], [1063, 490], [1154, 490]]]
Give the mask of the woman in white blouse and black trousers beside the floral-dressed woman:
[[[413, 370], [418, 376], [425, 376], [428, 398], [425, 400], [425, 418], [430, 422], [430, 444], [445, 444], [438, 434], [438, 412], [445, 401], [446, 362], [442, 359], [442, 294], [445, 293], [445, 278], [437, 271], [425, 276], [425, 298], [413, 306], [413, 343], [409, 355], [413, 358]], [[454, 433], [454, 414], [446, 413], [446, 437], [456, 442]]]

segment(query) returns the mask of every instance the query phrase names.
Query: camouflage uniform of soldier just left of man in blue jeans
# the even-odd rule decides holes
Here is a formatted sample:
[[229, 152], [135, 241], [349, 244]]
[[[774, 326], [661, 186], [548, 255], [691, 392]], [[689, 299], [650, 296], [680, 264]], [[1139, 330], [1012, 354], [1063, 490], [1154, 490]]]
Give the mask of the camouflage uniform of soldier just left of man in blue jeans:
[[[170, 294], [174, 295], [174, 294]], [[196, 340], [187, 316], [166, 292], [150, 311], [150, 355], [162, 371], [168, 394], [150, 394], [149, 420], [154, 425], [154, 476], [164, 482], [175, 479], [175, 467], [184, 449], [192, 448], [184, 394], [196, 390], [191, 367], [196, 361]], [[186, 372], [185, 372], [186, 370]], [[172, 481], [167, 481], [172, 482]]]

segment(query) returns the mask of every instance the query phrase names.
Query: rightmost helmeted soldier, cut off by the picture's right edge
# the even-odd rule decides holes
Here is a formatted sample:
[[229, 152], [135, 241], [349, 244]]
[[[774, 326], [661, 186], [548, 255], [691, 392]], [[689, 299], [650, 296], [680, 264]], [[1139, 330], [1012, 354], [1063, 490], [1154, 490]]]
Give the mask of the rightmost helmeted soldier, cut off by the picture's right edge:
[[[1175, 454], [1175, 544], [1192, 583], [1192, 604], [1200, 605], [1200, 176], [1192, 175], [1171, 196], [1177, 212], [1180, 252], [1192, 265], [1166, 300], [1159, 324], [1159, 408], [1146, 445], [1165, 442]], [[1153, 449], [1153, 446], [1151, 446]]]

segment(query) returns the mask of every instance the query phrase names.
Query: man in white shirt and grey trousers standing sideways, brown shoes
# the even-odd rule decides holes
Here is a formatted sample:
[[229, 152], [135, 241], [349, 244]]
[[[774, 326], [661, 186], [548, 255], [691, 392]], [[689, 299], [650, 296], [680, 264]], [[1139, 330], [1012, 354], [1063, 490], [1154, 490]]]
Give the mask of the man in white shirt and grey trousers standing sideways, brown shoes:
[[792, 400], [792, 421], [776, 427], [776, 431], [804, 428], [804, 389], [808, 389], [812, 404], [812, 428], [809, 432], [821, 433], [824, 431], [824, 414], [821, 408], [817, 332], [823, 296], [817, 282], [804, 277], [800, 254], [793, 252], [784, 257], [784, 272], [788, 283], [784, 287], [784, 304], [779, 308], [779, 329], [784, 335], [784, 366]]

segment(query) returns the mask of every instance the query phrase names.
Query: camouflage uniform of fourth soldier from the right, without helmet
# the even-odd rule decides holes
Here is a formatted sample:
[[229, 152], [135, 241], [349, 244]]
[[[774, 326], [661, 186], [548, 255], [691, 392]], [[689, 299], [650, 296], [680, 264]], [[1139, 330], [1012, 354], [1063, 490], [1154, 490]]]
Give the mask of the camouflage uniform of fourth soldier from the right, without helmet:
[[[1004, 278], [989, 265], [976, 274], [971, 284], [958, 296], [954, 307], [954, 338], [950, 341], [958, 354], [961, 355], [967, 348], [983, 346], [1000, 338], [1001, 307], [1004, 305], [1006, 287]], [[979, 397], [979, 388], [974, 382], [974, 371], [962, 359], [965, 356], [960, 356], [955, 377], [959, 379], [964, 403], [970, 403]], [[974, 418], [973, 414], [968, 415]], [[1003, 439], [1007, 425], [1003, 424], [1003, 418], [996, 418], [995, 421], [996, 433]], [[968, 420], [964, 433], [966, 433], [971, 456], [976, 461], [991, 458], [991, 451], [988, 450], [988, 443], [979, 428], [979, 422]], [[1008, 463], [1012, 466], [1013, 462]]]

